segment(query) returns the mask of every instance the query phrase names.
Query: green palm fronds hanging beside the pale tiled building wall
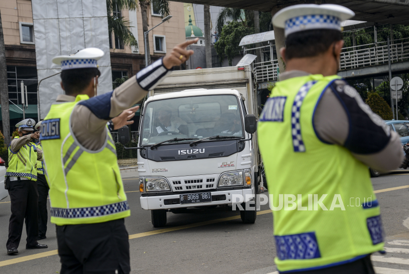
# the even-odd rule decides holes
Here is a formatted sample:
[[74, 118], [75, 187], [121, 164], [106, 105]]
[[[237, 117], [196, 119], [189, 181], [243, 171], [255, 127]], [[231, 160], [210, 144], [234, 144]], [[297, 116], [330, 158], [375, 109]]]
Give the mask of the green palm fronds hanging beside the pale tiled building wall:
[[138, 42], [134, 37], [134, 34], [130, 31], [130, 22], [125, 17], [119, 17], [113, 13], [113, 10], [137, 8], [135, 0], [106, 0], [106, 10], [108, 14], [108, 33], [109, 35], [114, 32], [119, 39], [128, 46], [138, 46]]

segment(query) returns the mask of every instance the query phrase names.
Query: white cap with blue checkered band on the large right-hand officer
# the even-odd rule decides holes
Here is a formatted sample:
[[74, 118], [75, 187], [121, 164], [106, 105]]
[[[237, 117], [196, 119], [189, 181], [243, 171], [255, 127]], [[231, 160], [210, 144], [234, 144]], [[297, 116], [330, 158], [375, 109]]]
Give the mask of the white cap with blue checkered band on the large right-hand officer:
[[355, 16], [349, 8], [335, 4], [301, 4], [278, 11], [272, 19], [274, 26], [284, 29], [285, 36], [314, 29], [341, 31], [341, 22]]

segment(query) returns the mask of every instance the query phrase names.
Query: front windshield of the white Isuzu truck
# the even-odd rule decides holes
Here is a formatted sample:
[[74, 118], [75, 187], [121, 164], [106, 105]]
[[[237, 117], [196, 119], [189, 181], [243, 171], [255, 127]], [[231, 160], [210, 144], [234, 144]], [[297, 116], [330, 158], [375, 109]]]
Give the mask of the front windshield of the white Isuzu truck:
[[208, 95], [153, 101], [146, 105], [141, 144], [177, 138], [242, 137], [238, 99]]

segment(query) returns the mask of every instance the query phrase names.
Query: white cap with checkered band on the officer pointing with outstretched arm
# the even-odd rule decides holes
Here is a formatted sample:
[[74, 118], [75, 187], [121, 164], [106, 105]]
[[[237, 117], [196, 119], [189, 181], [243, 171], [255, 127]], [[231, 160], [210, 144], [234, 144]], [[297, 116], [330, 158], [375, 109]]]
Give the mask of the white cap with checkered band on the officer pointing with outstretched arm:
[[61, 70], [98, 68], [97, 61], [103, 56], [99, 48], [84, 48], [74, 55], [61, 55], [53, 58], [53, 63], [61, 65]]

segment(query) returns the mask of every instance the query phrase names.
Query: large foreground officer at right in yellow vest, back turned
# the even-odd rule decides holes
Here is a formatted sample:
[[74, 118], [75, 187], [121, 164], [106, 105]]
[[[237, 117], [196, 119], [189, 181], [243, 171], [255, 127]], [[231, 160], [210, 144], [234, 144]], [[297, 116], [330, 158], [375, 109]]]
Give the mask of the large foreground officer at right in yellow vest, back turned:
[[273, 17], [285, 30], [286, 71], [260, 115], [258, 139], [280, 273], [372, 274], [370, 254], [383, 250], [368, 167], [395, 169], [403, 151], [398, 135], [336, 75], [341, 21], [353, 16], [339, 5], [302, 4]]

